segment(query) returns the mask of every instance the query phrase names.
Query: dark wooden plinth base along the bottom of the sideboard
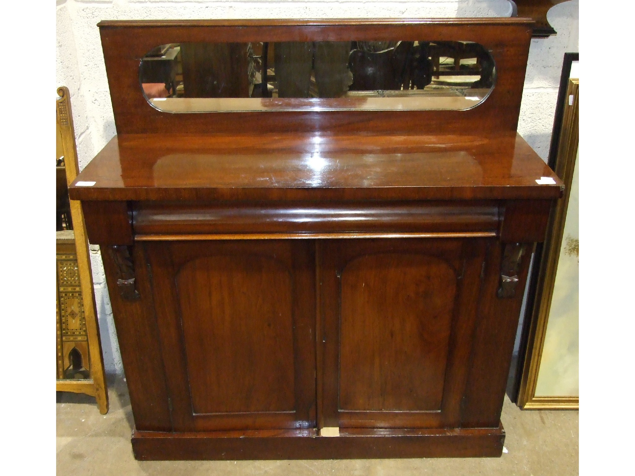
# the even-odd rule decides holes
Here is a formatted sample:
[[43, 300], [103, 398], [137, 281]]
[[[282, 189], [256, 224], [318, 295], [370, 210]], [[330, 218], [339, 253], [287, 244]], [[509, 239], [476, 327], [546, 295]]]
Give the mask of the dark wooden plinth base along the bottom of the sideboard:
[[500, 456], [505, 430], [340, 429], [338, 437], [316, 430], [245, 432], [140, 432], [132, 447], [140, 460], [166, 459], [359, 459]]

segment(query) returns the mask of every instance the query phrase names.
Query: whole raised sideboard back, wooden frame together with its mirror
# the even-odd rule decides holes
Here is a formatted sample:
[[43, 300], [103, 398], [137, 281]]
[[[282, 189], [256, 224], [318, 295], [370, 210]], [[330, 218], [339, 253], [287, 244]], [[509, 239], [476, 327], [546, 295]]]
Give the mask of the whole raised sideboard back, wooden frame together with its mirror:
[[98, 26], [119, 134], [516, 131], [531, 39], [522, 18]]

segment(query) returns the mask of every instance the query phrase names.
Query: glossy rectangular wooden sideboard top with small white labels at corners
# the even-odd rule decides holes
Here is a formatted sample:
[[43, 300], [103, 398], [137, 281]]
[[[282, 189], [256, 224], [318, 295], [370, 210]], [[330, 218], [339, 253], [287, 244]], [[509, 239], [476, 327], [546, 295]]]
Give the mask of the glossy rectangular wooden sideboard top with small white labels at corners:
[[112, 138], [69, 193], [84, 201], [446, 200], [555, 199], [562, 190], [517, 133], [145, 134]]

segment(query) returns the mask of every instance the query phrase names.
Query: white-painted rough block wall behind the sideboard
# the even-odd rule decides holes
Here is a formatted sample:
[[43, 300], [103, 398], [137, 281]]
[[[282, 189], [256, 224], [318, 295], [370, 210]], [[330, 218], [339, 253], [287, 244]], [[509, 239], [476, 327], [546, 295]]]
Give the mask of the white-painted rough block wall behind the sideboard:
[[[509, 17], [507, 0], [57, 0], [57, 74], [67, 86], [82, 169], [115, 135], [97, 22], [168, 18], [434, 18]], [[578, 51], [578, 0], [549, 10], [558, 34], [533, 39], [518, 131], [545, 161], [563, 55]], [[53, 90], [53, 88], [51, 88]], [[104, 267], [91, 246], [95, 298], [108, 373], [123, 373]]]

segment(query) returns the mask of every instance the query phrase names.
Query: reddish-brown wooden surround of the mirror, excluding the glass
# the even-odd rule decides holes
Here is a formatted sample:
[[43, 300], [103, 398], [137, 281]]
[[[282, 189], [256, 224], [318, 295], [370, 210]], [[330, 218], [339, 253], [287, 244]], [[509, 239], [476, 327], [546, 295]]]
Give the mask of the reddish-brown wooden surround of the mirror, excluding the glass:
[[[476, 134], [516, 131], [533, 20], [445, 18], [432, 20], [177, 20], [99, 23], [117, 133]], [[196, 42], [283, 41], [473, 41], [491, 52], [496, 86], [469, 110], [305, 110], [169, 114], [141, 93], [139, 58], [156, 46]], [[263, 116], [265, 114], [265, 116]], [[176, 116], [176, 117], [175, 117]], [[264, 120], [263, 120], [264, 119]]]

